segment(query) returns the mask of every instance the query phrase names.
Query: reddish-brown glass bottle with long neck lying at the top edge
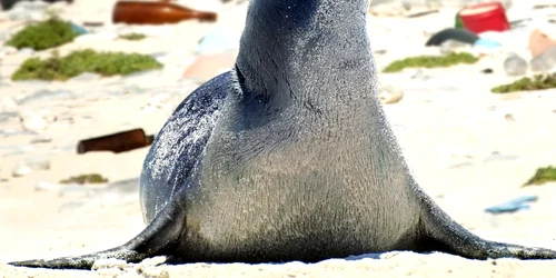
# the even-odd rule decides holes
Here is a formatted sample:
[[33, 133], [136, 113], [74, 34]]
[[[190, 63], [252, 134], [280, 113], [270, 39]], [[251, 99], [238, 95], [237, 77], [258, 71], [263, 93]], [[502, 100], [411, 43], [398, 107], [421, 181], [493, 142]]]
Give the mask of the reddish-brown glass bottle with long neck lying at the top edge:
[[216, 21], [217, 13], [197, 11], [170, 1], [118, 1], [113, 8], [112, 21], [128, 24], [166, 24], [198, 19]]

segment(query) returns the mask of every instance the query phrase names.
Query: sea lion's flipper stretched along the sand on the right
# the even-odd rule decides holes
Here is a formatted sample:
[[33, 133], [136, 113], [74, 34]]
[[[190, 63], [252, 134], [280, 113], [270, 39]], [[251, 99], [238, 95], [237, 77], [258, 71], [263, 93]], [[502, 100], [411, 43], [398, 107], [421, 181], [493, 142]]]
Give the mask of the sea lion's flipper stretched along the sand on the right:
[[455, 222], [429, 198], [420, 219], [419, 251], [444, 251], [469, 259], [556, 259], [556, 251], [485, 240]]

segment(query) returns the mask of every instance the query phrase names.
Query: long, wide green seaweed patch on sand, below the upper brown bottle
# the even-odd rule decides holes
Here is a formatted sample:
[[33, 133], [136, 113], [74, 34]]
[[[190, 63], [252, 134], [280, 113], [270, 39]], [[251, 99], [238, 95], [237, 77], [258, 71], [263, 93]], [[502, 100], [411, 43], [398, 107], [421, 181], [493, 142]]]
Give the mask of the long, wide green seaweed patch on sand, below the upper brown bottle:
[[40, 58], [27, 59], [13, 72], [11, 79], [64, 81], [83, 72], [96, 72], [109, 77], [160, 68], [162, 68], [162, 64], [147, 54], [96, 52], [91, 49], [86, 49], [60, 57], [54, 51], [53, 56], [46, 60], [41, 60]]

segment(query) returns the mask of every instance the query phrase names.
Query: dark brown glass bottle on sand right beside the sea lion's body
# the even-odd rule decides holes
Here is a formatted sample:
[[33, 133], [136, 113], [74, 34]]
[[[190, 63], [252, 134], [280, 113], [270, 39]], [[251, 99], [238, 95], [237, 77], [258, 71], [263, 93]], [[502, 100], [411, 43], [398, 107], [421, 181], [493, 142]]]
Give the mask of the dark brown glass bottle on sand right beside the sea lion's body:
[[112, 151], [116, 153], [150, 146], [155, 136], [146, 136], [142, 129], [132, 129], [113, 135], [79, 141], [78, 153], [89, 151]]

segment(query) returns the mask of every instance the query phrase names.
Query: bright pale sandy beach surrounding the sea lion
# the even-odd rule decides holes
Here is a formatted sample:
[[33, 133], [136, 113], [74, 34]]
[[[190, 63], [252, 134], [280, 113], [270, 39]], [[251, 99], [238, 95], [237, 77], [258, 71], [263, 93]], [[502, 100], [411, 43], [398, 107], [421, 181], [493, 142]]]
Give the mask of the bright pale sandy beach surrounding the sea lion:
[[[446, 254], [394, 251], [337, 258], [318, 264], [107, 264], [92, 271], [14, 268], [4, 262], [81, 255], [121, 245], [142, 230], [138, 177], [148, 147], [122, 153], [78, 155], [81, 139], [142, 128], [156, 135], [173, 109], [203, 80], [183, 77], [200, 53], [198, 42], [214, 30], [240, 33], [247, 2], [180, 1], [215, 10], [215, 23], [183, 21], [167, 26], [111, 23], [113, 0], [58, 2], [49, 9], [76, 24], [103, 22], [60, 53], [91, 48], [151, 54], [160, 70], [101, 78], [85, 73], [68, 81], [12, 81], [29, 57], [50, 51], [3, 46], [24, 19], [0, 12], [0, 277], [554, 277], [556, 261], [469, 260]], [[514, 1], [510, 20], [537, 14], [534, 3]], [[393, 7], [398, 7], [394, 6]], [[419, 8], [416, 10], [424, 10]], [[416, 54], [438, 54], [425, 42], [454, 24], [457, 9], [407, 18], [373, 7], [369, 33], [379, 69]], [[414, 10], [413, 12], [415, 12]], [[556, 10], [546, 10], [556, 14]], [[391, 12], [390, 12], [391, 13]], [[475, 64], [443, 69], [379, 72], [379, 83], [403, 91], [385, 105], [388, 119], [420, 187], [456, 221], [477, 235], [514, 244], [556, 249], [556, 182], [522, 187], [537, 168], [556, 166], [556, 89], [495, 95], [490, 88], [512, 82], [503, 70], [508, 52], [526, 60], [534, 26], [496, 37], [502, 48], [481, 53]], [[140, 41], [117, 39], [141, 32]], [[530, 54], [529, 54], [530, 56]], [[492, 73], [484, 73], [492, 69]], [[528, 76], [533, 75], [527, 72]], [[22, 165], [37, 169], [13, 177]], [[32, 167], [31, 167], [32, 168]], [[81, 173], [100, 173], [106, 185], [60, 185]], [[522, 196], [536, 196], [530, 208], [492, 215], [485, 209]]]

